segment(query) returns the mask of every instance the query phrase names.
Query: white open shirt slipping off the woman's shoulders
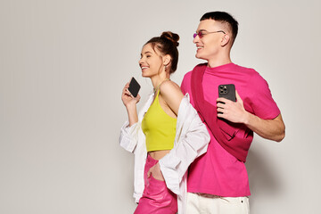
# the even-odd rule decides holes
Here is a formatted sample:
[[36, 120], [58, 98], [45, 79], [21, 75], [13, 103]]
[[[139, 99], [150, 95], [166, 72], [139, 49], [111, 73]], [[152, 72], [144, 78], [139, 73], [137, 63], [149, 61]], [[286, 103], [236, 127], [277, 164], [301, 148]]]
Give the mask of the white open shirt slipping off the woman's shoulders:
[[[128, 152], [135, 154], [134, 198], [136, 202], [139, 202], [144, 192], [144, 164], [147, 157], [145, 136], [141, 125], [145, 112], [152, 104], [153, 96], [152, 93], [139, 112], [138, 122], [129, 127], [129, 122], [126, 121], [119, 136], [119, 144]], [[207, 151], [209, 142], [208, 129], [190, 103], [189, 95], [186, 94], [179, 104], [174, 147], [159, 161], [166, 185], [177, 194], [178, 214], [185, 213], [187, 169], [197, 157]]]

